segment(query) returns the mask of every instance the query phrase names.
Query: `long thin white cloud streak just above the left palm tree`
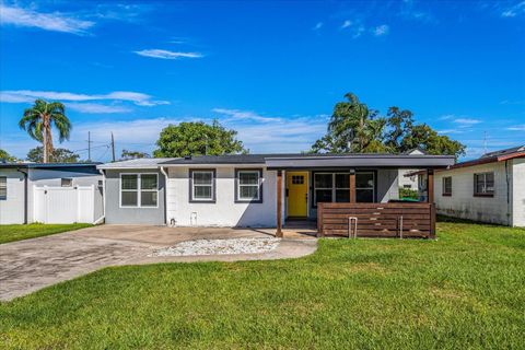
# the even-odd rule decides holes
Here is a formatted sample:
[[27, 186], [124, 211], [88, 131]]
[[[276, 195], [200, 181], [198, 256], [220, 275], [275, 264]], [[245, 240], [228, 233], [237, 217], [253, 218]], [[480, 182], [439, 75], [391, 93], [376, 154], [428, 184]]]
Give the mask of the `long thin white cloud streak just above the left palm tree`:
[[108, 94], [78, 94], [71, 92], [56, 91], [32, 91], [32, 90], [5, 90], [0, 91], [0, 102], [4, 103], [32, 103], [36, 98], [85, 102], [85, 101], [126, 101], [138, 106], [155, 106], [170, 104], [167, 101], [154, 101], [152, 96], [132, 91], [114, 91]]

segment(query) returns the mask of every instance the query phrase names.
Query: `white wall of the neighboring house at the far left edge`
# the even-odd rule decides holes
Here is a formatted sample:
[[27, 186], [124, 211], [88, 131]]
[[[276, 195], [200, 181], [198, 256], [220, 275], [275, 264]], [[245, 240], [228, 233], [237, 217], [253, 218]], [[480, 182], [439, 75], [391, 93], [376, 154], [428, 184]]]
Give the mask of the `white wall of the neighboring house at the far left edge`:
[[0, 176], [8, 177], [8, 198], [0, 199], [0, 224], [24, 223], [24, 174], [2, 168]]

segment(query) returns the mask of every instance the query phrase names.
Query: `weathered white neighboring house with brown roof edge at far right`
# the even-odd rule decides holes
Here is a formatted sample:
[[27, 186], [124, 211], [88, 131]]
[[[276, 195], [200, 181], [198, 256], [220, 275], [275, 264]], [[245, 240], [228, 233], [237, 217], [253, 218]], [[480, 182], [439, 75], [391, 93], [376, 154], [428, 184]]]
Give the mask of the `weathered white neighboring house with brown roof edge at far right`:
[[434, 186], [438, 213], [525, 226], [525, 145], [436, 172]]

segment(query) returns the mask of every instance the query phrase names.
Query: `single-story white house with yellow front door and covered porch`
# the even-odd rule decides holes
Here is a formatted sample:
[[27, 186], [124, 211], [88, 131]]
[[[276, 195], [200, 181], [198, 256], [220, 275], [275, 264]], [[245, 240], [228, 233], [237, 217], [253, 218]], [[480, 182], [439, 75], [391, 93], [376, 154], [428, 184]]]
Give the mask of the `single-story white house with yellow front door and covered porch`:
[[[415, 208], [428, 219], [429, 233], [431, 203], [395, 202], [398, 171], [424, 168], [432, 174], [452, 164], [453, 156], [427, 154], [236, 154], [141, 159], [97, 167], [104, 173], [105, 220], [110, 224], [277, 228], [280, 232], [290, 220], [315, 221], [318, 212], [326, 213], [322, 209], [331, 210], [330, 203], [350, 214], [358, 207], [372, 210], [372, 215], [383, 210], [397, 215]], [[360, 226], [361, 222], [365, 220]], [[365, 231], [397, 234], [397, 229], [376, 223], [381, 222]], [[348, 231], [347, 221], [341, 226], [320, 229]]]

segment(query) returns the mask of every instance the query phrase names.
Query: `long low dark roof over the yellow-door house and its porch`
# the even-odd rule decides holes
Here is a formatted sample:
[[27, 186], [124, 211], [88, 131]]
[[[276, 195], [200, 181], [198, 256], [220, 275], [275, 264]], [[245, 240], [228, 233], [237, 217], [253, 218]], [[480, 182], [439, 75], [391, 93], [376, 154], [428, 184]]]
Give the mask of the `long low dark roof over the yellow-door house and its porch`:
[[290, 154], [233, 154], [201, 155], [176, 159], [160, 165], [206, 164], [265, 164], [269, 168], [349, 167], [349, 166], [406, 166], [446, 167], [454, 164], [452, 155], [377, 154], [377, 153], [290, 153]]

